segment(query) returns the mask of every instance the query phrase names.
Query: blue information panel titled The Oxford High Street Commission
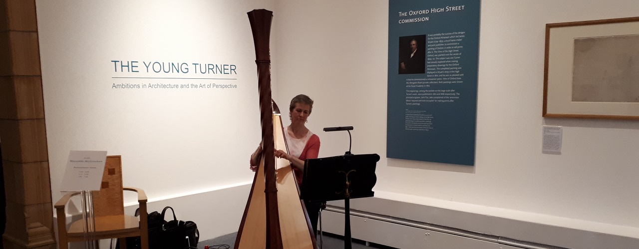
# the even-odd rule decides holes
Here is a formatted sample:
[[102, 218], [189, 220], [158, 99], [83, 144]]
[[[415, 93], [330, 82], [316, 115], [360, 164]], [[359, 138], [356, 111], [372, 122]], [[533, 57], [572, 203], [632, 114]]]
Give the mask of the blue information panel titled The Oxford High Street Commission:
[[389, 1], [389, 158], [475, 165], [480, 6]]

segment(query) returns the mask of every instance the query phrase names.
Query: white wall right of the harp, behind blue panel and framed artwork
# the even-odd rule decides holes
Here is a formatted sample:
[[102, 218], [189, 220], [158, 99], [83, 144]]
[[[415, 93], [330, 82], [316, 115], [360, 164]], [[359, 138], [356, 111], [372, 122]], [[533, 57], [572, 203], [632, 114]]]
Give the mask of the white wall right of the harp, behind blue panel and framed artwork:
[[[639, 122], [541, 117], [545, 24], [633, 17], [637, 1], [482, 1], [474, 167], [385, 158], [387, 6], [282, 0], [275, 12], [278, 97], [314, 98], [316, 132], [354, 126], [353, 153], [382, 158], [374, 190], [420, 204], [639, 227]], [[543, 125], [564, 126], [561, 155], [541, 153]], [[346, 133], [319, 136], [320, 156], [348, 147]]]

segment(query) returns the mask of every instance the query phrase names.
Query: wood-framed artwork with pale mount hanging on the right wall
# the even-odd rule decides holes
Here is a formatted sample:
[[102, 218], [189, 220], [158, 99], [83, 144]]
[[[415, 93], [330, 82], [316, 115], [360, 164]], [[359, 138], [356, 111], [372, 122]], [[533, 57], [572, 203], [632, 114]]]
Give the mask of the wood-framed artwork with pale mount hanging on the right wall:
[[543, 116], [639, 119], [639, 17], [546, 24]]

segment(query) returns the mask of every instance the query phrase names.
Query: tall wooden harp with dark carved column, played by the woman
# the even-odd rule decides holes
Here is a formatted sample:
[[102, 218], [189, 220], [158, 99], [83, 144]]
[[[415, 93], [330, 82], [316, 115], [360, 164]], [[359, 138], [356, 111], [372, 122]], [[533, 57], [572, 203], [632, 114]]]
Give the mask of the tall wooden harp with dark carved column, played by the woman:
[[263, 149], [253, 178], [236, 249], [314, 249], [315, 236], [290, 163], [275, 158], [274, 150], [286, 150], [282, 119], [272, 102], [269, 39], [273, 12], [249, 13], [258, 66], [258, 90]]

